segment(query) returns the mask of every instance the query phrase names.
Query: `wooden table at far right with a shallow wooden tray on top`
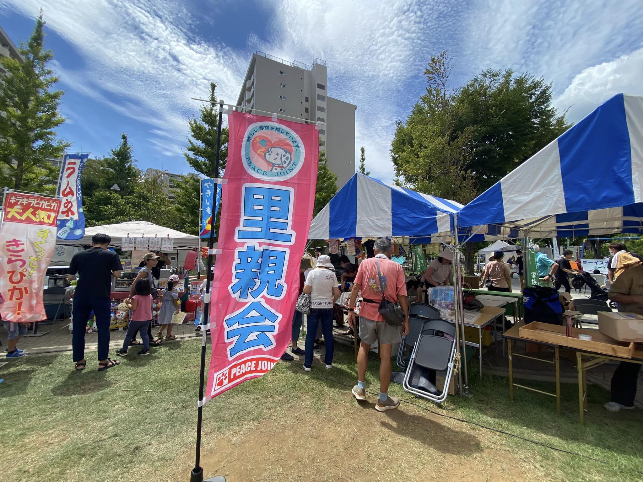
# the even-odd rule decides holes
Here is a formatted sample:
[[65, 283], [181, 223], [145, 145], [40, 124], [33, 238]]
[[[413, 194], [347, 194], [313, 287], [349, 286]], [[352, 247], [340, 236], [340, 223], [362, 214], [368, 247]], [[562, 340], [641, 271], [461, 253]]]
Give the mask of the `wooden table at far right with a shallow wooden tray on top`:
[[[545, 325], [539, 323], [538, 325]], [[532, 339], [520, 334], [520, 328], [524, 328], [525, 323], [518, 323], [512, 326], [504, 334], [507, 339], [507, 348], [509, 350], [509, 398], [514, 399], [514, 387], [523, 388], [550, 397], [556, 398], [556, 413], [561, 413], [561, 390], [560, 390], [560, 364], [559, 364], [559, 350], [565, 348], [576, 352], [576, 371], [578, 373], [578, 406], [579, 406], [579, 423], [584, 423], [584, 412], [587, 409], [587, 370], [595, 366], [602, 365], [610, 360], [627, 361], [633, 363], [643, 364], [643, 348], [640, 344], [631, 344], [629, 347], [619, 343], [610, 337], [601, 334], [597, 330], [584, 330], [583, 328], [572, 328], [574, 336], [565, 336], [565, 326], [548, 325], [543, 327], [546, 331], [541, 335], [541, 339]], [[562, 335], [561, 335], [562, 334]], [[579, 334], [592, 335], [592, 341], [584, 341], [578, 339]], [[526, 343], [535, 343], [541, 346], [550, 346], [554, 348], [554, 360], [548, 361], [521, 353], [512, 352], [512, 341], [525, 341]], [[612, 348], [610, 348], [610, 345]], [[629, 355], [629, 356], [628, 356]], [[556, 394], [541, 391], [528, 386], [514, 383], [512, 357], [523, 357], [552, 363], [554, 365], [554, 372], [556, 373]], [[583, 357], [587, 361], [583, 362]]]

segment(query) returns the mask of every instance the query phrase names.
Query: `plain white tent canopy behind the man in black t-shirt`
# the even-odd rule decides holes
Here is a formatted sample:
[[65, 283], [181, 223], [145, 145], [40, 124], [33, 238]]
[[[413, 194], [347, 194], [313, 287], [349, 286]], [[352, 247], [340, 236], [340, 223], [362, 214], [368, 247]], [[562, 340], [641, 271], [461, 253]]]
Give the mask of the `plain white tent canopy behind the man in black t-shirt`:
[[77, 240], [58, 239], [57, 244], [68, 245], [90, 245], [91, 237], [98, 233], [104, 233], [112, 237], [111, 245], [122, 245], [125, 237], [134, 238], [170, 238], [174, 240], [174, 249], [177, 247], [194, 248], [199, 245], [199, 237], [176, 231], [176, 229], [163, 228], [147, 221], [128, 221], [120, 224], [104, 224], [103, 226], [92, 226], [85, 229], [85, 236]]

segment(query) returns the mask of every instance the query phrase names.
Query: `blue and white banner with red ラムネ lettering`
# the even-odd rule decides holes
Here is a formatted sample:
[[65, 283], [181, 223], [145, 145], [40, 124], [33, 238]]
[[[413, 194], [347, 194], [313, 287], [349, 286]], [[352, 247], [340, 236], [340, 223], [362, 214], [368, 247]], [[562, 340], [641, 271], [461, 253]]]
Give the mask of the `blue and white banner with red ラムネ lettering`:
[[58, 238], [80, 239], [85, 235], [85, 213], [80, 193], [80, 173], [89, 153], [65, 154], [60, 170]]

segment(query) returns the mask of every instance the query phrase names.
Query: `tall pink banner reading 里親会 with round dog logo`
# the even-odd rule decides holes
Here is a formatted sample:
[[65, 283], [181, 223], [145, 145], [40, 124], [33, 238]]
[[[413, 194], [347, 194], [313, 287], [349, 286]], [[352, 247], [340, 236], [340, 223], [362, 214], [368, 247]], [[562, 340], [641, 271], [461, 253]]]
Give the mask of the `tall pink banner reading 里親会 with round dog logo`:
[[314, 124], [229, 112], [228, 127], [206, 400], [267, 373], [291, 343], [319, 158]]

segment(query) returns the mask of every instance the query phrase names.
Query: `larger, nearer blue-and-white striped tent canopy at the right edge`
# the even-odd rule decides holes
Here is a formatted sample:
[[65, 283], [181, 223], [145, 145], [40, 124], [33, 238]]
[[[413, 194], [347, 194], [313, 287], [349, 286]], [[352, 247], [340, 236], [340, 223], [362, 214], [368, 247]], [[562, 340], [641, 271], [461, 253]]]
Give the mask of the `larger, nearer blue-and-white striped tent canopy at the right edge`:
[[618, 94], [469, 202], [458, 227], [530, 237], [643, 232], [643, 97]]

